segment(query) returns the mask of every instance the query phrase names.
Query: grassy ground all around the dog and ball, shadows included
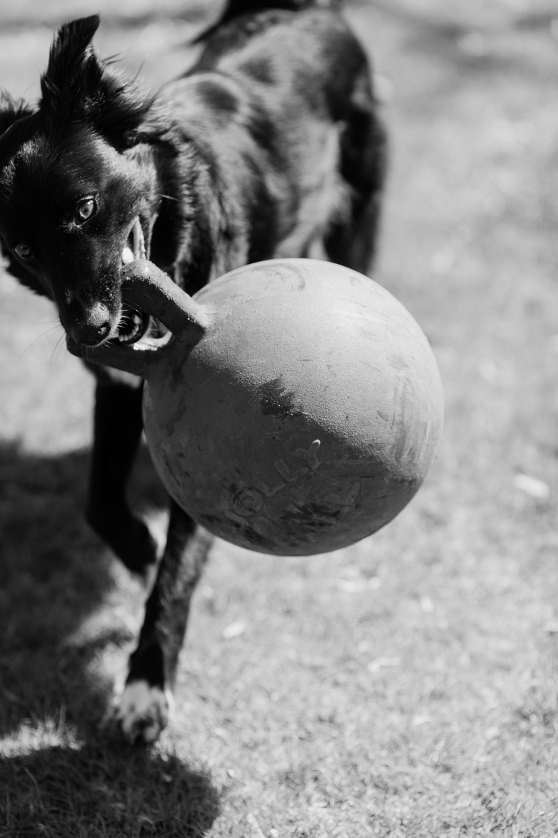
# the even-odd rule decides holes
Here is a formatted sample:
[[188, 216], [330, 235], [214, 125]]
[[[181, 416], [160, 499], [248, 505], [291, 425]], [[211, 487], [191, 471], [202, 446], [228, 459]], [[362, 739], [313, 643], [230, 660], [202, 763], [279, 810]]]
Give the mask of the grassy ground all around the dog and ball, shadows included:
[[[115, 18], [105, 54], [131, 70], [145, 55], [152, 81], [180, 69], [194, 24], [172, 28], [167, 7]], [[46, 60], [37, 8], [6, 11], [14, 92], [33, 94]], [[348, 15], [390, 95], [376, 277], [437, 355], [438, 463], [346, 551], [219, 542], [175, 721], [153, 749], [127, 748], [100, 722], [141, 591], [79, 515], [91, 381], [57, 349], [48, 304], [0, 277], [0, 835], [558, 835], [555, 9], [397, 0]], [[136, 500], [161, 524], [147, 458]]]

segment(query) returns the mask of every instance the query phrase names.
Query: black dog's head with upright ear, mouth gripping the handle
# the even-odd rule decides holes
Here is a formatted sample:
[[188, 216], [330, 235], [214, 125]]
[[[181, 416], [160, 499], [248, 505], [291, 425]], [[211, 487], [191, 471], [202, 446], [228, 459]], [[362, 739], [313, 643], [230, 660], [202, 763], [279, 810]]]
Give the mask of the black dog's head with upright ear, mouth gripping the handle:
[[37, 109], [0, 99], [0, 245], [8, 270], [59, 308], [66, 332], [95, 346], [133, 340], [143, 319], [123, 313], [120, 268], [149, 256], [160, 200], [152, 100], [100, 62], [97, 16], [63, 26], [41, 78]]

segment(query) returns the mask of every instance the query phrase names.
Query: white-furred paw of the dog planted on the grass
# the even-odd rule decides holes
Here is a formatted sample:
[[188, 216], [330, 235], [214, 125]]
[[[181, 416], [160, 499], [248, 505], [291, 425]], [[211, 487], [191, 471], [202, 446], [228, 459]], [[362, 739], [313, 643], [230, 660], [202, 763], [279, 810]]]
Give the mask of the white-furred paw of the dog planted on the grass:
[[131, 681], [122, 693], [115, 721], [131, 745], [149, 745], [159, 738], [171, 712], [168, 690], [150, 686], [145, 680]]

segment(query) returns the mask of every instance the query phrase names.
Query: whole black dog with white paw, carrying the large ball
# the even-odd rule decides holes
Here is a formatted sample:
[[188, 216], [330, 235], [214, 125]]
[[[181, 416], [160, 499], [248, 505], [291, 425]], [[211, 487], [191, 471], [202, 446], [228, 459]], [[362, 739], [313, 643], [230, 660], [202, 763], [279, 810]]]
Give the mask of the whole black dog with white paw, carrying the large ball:
[[[331, 5], [331, 4], [330, 4]], [[56, 303], [85, 347], [158, 328], [122, 303], [123, 264], [148, 258], [190, 293], [250, 261], [314, 256], [366, 272], [384, 133], [366, 56], [332, 8], [230, 0], [181, 78], [144, 96], [107, 69], [98, 17], [63, 26], [38, 106], [0, 100], [0, 245], [8, 271]], [[125, 484], [141, 436], [141, 381], [95, 368], [87, 519], [131, 571], [156, 543]], [[192, 591], [210, 546], [170, 524], [118, 718], [130, 741], [166, 725]]]

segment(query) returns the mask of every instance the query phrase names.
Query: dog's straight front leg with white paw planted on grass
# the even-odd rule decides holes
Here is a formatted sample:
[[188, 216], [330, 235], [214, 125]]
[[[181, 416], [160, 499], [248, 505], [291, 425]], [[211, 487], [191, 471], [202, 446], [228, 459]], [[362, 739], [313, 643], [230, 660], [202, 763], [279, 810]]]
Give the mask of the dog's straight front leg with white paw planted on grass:
[[212, 536], [171, 501], [165, 552], [116, 715], [132, 744], [155, 742], [168, 722], [190, 600], [211, 543]]

